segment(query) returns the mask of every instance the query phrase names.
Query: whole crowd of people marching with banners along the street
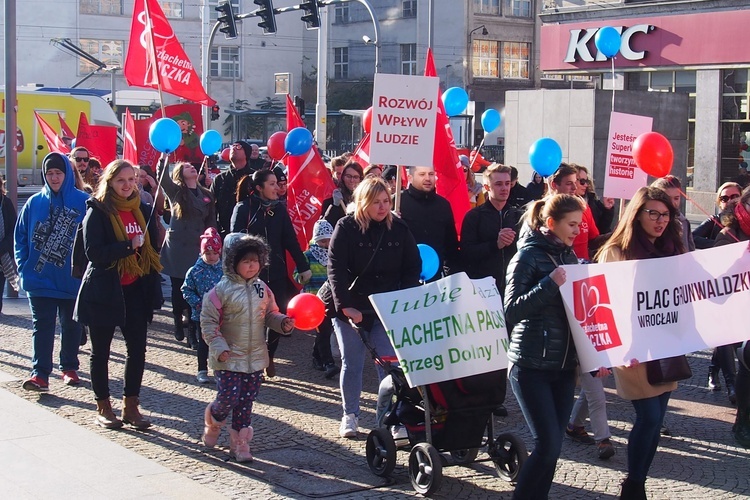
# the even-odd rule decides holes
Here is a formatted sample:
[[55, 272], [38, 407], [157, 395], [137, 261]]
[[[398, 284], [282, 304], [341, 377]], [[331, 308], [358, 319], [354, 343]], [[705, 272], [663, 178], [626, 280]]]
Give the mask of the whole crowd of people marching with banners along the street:
[[[18, 217], [0, 194], [0, 257], [14, 252], [33, 319], [32, 370], [23, 387], [49, 390], [59, 318], [58, 368], [65, 384], [80, 383], [78, 348], [91, 342], [97, 425], [147, 429], [151, 422], [139, 410], [139, 394], [148, 324], [164, 303], [163, 275], [171, 285], [174, 338], [187, 339], [196, 351], [196, 381], [212, 382], [210, 369], [217, 387], [204, 411], [203, 443], [216, 445], [231, 414], [230, 454], [251, 461], [253, 401], [263, 381], [276, 377], [279, 339], [295, 327], [286, 307], [303, 288], [326, 307], [312, 365], [326, 378], [339, 376], [339, 434], [356, 437], [367, 364], [357, 331], [366, 332], [381, 356], [395, 356], [368, 296], [418, 286], [417, 245], [426, 244], [439, 259], [432, 279], [456, 272], [491, 276], [503, 297], [511, 368], [502, 393], [507, 379], [534, 439], [514, 498], [548, 496], [566, 435], [596, 444], [601, 459], [615, 454], [602, 382], [612, 373], [618, 395], [632, 401], [635, 414], [621, 498], [645, 498], [676, 383], [649, 383], [637, 359], [580, 370], [559, 291], [566, 280], [560, 266], [661, 258], [748, 240], [750, 190], [723, 184], [720, 213], [691, 232], [680, 212], [680, 181], [666, 176], [640, 189], [613, 225], [615, 202], [596, 195], [587, 168], [562, 163], [547, 179], [535, 172], [524, 187], [514, 167], [482, 163], [480, 182], [477, 154], [459, 158], [472, 207], [460, 234], [450, 203], [436, 192], [432, 166], [409, 167], [408, 185], [399, 186], [401, 167], [361, 165], [348, 154], [333, 158], [335, 189], [303, 252], [287, 212], [286, 173], [261, 158], [257, 146], [232, 144], [230, 168], [215, 178], [205, 163], [159, 162], [154, 171], [116, 160], [97, 169], [85, 148], [69, 156], [50, 153], [42, 164], [44, 186]], [[119, 418], [108, 371], [116, 328], [127, 348]], [[737, 370], [736, 347], [715, 349], [707, 385], [721, 390], [723, 373], [729, 400], [738, 407], [734, 436], [750, 447], [750, 370], [741, 352]], [[501, 404], [495, 414], [507, 410]], [[585, 429], [587, 417], [593, 437]]]

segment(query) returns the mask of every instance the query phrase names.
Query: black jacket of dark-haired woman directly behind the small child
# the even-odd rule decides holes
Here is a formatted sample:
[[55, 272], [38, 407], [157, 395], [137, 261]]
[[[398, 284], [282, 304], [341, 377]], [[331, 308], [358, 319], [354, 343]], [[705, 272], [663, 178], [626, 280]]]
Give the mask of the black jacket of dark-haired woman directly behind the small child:
[[250, 196], [234, 207], [229, 227], [233, 233], [255, 234], [265, 238], [271, 247], [271, 255], [268, 267], [260, 272], [260, 279], [269, 286], [272, 282], [288, 278], [287, 252], [292, 256], [298, 272], [310, 269], [310, 264], [297, 241], [285, 203], [262, 207], [260, 198]]

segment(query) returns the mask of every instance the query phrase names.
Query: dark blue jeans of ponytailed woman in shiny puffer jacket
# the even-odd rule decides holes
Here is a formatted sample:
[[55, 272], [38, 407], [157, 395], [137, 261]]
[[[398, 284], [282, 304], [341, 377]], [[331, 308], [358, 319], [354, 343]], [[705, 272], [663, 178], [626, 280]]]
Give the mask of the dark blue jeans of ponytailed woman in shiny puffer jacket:
[[575, 370], [535, 370], [513, 365], [510, 385], [534, 438], [534, 451], [518, 476], [514, 499], [547, 498], [573, 407]]

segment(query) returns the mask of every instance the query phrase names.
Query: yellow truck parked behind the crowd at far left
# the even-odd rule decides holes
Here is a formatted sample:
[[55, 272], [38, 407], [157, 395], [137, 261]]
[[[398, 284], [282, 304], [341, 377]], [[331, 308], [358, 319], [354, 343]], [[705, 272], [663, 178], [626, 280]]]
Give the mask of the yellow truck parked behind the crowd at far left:
[[[49, 153], [42, 129], [34, 118], [34, 111], [44, 118], [60, 134], [60, 120], [57, 114], [65, 119], [75, 132], [81, 112], [86, 114], [92, 125], [120, 126], [112, 108], [99, 96], [72, 95], [61, 92], [18, 89], [18, 130], [16, 146], [18, 148], [18, 185], [41, 184], [42, 159]], [[5, 100], [5, 89], [0, 88], [0, 169], [5, 171], [5, 135], [9, 132], [5, 126], [5, 112], [8, 103]]]

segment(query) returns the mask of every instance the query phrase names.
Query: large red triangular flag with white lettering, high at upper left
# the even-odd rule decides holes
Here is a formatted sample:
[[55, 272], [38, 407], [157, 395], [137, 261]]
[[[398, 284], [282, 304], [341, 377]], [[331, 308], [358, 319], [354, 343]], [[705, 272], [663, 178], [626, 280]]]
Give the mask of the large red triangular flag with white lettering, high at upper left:
[[172, 95], [205, 106], [216, 104], [206, 94], [157, 0], [135, 0], [123, 74], [135, 87], [156, 89], [161, 84]]

